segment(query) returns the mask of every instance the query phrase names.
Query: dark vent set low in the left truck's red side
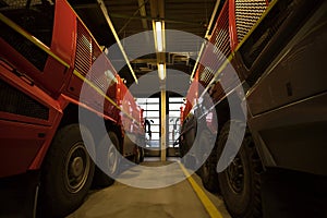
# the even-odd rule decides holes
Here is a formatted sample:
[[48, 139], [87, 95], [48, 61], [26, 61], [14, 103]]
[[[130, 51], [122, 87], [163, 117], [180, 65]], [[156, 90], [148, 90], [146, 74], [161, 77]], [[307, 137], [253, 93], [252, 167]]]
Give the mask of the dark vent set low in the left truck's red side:
[[47, 107], [2, 80], [0, 80], [0, 111], [43, 120], [49, 119], [49, 109]]

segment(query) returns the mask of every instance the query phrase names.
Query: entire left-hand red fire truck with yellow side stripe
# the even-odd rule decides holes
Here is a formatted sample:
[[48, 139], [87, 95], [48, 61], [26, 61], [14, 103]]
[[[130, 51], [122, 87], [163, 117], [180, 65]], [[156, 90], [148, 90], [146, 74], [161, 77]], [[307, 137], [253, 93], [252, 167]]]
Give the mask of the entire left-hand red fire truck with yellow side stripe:
[[[94, 158], [111, 173], [116, 150], [143, 159], [142, 110], [65, 0], [1, 1], [0, 21], [0, 216], [63, 217], [93, 181], [112, 183]], [[98, 57], [105, 70], [90, 80]], [[81, 102], [83, 84], [92, 99]], [[101, 120], [110, 142], [96, 122], [80, 125], [78, 111]]]

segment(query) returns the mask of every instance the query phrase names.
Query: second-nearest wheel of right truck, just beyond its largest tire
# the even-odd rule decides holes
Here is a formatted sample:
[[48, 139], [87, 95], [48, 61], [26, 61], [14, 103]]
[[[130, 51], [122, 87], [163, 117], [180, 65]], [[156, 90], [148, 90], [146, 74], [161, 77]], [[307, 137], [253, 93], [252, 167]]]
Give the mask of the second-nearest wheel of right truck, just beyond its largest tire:
[[[199, 136], [199, 145], [201, 146], [208, 146], [208, 143], [215, 143], [211, 142], [210, 138], [213, 138], [211, 133], [208, 130], [204, 130], [201, 133]], [[206, 146], [206, 147], [207, 147]], [[216, 150], [213, 150], [211, 154], [199, 154], [202, 156], [208, 157], [205, 162], [199, 168], [199, 177], [202, 179], [203, 185], [210, 192], [217, 192], [218, 191], [218, 175], [216, 172], [216, 166], [217, 166], [217, 154]]]

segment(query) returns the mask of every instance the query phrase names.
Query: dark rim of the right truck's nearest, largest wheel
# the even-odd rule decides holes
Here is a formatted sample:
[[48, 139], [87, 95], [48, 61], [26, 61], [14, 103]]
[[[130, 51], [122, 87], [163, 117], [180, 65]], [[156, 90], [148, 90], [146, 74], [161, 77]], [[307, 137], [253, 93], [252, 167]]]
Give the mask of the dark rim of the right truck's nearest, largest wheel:
[[244, 187], [244, 168], [239, 155], [227, 168], [227, 178], [229, 186], [235, 192], [241, 193]]

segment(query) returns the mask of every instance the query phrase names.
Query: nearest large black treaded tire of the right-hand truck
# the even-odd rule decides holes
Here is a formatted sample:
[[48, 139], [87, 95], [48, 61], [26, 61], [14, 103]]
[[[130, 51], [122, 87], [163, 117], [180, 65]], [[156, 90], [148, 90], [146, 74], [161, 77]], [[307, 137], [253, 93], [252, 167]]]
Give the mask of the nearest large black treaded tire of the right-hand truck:
[[[237, 130], [231, 132], [234, 137], [239, 137], [241, 124]], [[226, 123], [221, 129], [217, 156], [220, 157], [226, 145], [230, 131], [230, 122]], [[230, 145], [233, 145], [231, 142]], [[229, 167], [218, 173], [218, 181], [223, 197], [225, 204], [233, 218], [259, 218], [262, 217], [262, 201], [261, 201], [261, 179], [262, 162], [257, 155], [249, 130], [245, 132], [241, 148], [229, 165]]]

